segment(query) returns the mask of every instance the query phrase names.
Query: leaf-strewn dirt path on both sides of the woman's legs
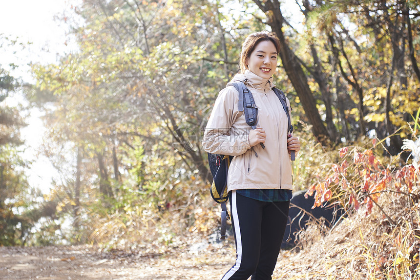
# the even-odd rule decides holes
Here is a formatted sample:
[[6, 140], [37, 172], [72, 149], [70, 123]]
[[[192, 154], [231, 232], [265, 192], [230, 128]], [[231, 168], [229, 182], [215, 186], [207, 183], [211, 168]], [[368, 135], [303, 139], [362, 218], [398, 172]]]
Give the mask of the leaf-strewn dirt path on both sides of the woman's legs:
[[[0, 247], [0, 280], [219, 280], [234, 264], [233, 246], [203, 241], [164, 254], [104, 252], [87, 245]], [[351, 279], [319, 261], [326, 247], [281, 251], [273, 280]]]

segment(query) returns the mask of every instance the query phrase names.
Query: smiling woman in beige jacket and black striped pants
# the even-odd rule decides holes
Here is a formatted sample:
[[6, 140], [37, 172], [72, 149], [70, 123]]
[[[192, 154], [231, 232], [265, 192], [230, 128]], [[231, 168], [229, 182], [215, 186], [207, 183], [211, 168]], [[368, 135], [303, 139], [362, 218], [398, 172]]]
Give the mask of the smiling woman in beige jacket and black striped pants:
[[288, 135], [287, 113], [272, 89], [279, 49], [275, 33], [251, 34], [242, 45], [240, 72], [232, 79], [244, 82], [252, 92], [257, 127], [252, 130], [244, 112], [238, 111], [238, 91], [228, 83], [216, 99], [204, 133], [207, 152], [235, 156], [229, 167], [228, 192], [236, 263], [222, 280], [250, 276], [271, 280], [288, 220], [289, 154], [300, 150], [300, 142]]

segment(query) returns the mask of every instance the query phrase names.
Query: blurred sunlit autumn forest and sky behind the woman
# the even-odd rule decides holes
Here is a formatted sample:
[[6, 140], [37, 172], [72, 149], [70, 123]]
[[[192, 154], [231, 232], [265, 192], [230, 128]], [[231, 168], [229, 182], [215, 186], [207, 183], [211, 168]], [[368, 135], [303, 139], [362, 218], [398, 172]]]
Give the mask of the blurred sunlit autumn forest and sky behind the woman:
[[[281, 41], [296, 191], [329, 178], [343, 147], [374, 141], [383, 170], [412, 162], [417, 1], [2, 1], [0, 245], [159, 250], [215, 234], [203, 129], [261, 30]], [[340, 186], [345, 207], [374, 200]]]

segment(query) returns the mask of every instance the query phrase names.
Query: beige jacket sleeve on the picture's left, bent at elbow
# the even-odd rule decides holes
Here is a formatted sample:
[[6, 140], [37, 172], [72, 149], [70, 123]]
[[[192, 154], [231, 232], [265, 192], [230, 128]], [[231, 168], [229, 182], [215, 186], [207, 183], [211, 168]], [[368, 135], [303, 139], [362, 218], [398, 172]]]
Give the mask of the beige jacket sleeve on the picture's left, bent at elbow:
[[214, 103], [209, 121], [204, 131], [202, 141], [206, 152], [238, 156], [251, 149], [248, 140], [248, 130], [233, 133], [232, 126], [242, 116], [243, 112], [238, 111], [238, 91], [233, 86], [228, 86], [219, 92]]

